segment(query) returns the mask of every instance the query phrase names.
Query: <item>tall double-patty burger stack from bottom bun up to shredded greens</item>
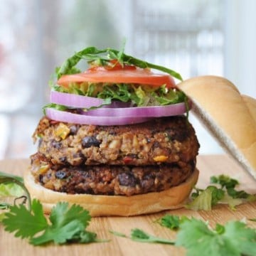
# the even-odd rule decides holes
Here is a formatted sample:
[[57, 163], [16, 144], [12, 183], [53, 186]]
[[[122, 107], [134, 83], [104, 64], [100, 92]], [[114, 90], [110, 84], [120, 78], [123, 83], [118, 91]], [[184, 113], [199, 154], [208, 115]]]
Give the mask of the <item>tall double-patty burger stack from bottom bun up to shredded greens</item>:
[[[83, 72], [80, 60], [89, 63]], [[176, 85], [182, 79], [174, 70], [94, 47], [68, 58], [55, 75], [33, 134], [38, 151], [24, 175], [44, 211], [58, 201], [77, 203], [92, 216], [183, 206], [198, 180], [199, 144], [188, 111], [200, 103], [184, 93], [191, 95], [194, 80]], [[196, 81], [207, 87], [214, 79], [223, 78]]]

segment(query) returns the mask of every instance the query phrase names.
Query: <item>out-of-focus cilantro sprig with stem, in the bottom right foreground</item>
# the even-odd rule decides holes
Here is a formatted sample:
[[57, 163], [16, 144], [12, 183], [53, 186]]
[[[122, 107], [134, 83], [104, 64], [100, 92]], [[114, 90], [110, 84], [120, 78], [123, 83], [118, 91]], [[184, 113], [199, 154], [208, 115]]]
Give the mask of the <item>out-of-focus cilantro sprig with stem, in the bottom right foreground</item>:
[[165, 243], [186, 248], [186, 255], [256, 255], [256, 230], [238, 220], [232, 220], [225, 225], [216, 224], [210, 228], [208, 223], [196, 218], [166, 214], [156, 223], [176, 230], [176, 240], [159, 238], [135, 228], [130, 235], [113, 232], [113, 235], [129, 238], [136, 242]]

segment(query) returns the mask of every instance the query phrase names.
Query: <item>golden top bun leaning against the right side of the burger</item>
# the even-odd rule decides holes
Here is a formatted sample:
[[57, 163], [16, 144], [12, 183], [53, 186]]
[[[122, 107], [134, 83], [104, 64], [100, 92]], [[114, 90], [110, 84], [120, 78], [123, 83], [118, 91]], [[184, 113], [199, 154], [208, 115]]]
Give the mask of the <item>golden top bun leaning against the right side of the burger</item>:
[[191, 78], [177, 86], [221, 146], [256, 178], [255, 99], [240, 95], [232, 82], [217, 76]]

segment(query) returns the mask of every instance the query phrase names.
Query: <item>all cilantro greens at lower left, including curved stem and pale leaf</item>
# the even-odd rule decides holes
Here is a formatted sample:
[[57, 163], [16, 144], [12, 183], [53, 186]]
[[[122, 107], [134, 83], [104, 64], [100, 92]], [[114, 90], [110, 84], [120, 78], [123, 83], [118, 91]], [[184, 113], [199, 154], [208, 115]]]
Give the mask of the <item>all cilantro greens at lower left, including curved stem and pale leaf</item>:
[[[8, 209], [0, 214], [4, 229], [14, 233], [17, 238], [28, 238], [31, 245], [45, 245], [49, 242], [64, 244], [70, 242], [88, 243], [105, 242], [98, 240], [97, 234], [87, 230], [91, 216], [88, 210], [81, 206], [69, 206], [66, 202], [57, 203], [47, 219], [43, 213], [40, 201], [31, 201], [28, 190], [23, 184], [23, 178], [11, 174], [0, 173], [0, 196], [20, 196], [25, 191], [28, 207], [24, 203], [0, 202], [0, 209]], [[16, 198], [17, 199], [17, 198]]]

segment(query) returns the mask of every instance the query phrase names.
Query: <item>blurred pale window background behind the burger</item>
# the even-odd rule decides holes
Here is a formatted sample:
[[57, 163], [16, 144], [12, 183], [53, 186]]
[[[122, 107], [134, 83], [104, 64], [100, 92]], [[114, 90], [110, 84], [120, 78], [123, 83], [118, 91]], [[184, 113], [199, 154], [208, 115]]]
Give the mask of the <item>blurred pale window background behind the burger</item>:
[[[256, 97], [255, 0], [0, 0], [0, 159], [36, 152], [31, 135], [55, 67], [87, 46], [178, 71], [225, 76]], [[194, 117], [201, 154], [222, 149]]]

